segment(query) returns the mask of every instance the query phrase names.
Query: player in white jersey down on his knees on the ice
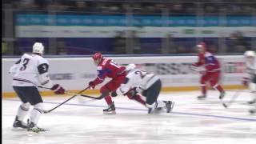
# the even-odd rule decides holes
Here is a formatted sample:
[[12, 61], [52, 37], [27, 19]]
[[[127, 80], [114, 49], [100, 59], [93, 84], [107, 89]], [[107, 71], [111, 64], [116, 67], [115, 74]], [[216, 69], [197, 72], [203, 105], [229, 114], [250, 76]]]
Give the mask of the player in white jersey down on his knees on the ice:
[[[118, 88], [117, 93], [127, 95], [128, 98], [140, 102], [148, 108], [148, 113], [154, 110], [166, 109], [167, 113], [174, 107], [174, 102], [158, 101], [158, 95], [162, 88], [162, 82], [155, 74], [148, 74], [146, 71], [138, 70], [134, 64], [126, 66], [128, 74], [126, 80]], [[142, 95], [141, 95], [142, 94]], [[141, 97], [146, 97], [146, 101]]]

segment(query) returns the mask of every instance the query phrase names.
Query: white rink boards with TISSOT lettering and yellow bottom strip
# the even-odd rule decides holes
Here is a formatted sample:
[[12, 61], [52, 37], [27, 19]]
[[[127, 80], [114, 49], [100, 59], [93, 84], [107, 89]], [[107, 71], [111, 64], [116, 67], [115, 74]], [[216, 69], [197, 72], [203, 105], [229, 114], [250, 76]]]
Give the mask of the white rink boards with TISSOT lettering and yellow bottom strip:
[[[163, 91], [199, 90], [198, 72], [191, 70], [190, 65], [198, 60], [197, 56], [163, 56], [163, 57], [111, 57], [119, 65], [137, 64], [139, 69], [154, 73], [162, 79]], [[226, 88], [241, 88], [244, 73], [242, 55], [217, 56], [222, 65], [220, 83]], [[88, 82], [97, 76], [97, 66], [91, 58], [47, 58], [50, 62], [50, 77], [60, 83], [66, 90], [82, 90]], [[2, 58], [2, 95], [14, 95], [12, 75], [8, 74], [18, 58]], [[96, 86], [95, 93], [102, 85]], [[49, 91], [40, 89], [42, 92]]]

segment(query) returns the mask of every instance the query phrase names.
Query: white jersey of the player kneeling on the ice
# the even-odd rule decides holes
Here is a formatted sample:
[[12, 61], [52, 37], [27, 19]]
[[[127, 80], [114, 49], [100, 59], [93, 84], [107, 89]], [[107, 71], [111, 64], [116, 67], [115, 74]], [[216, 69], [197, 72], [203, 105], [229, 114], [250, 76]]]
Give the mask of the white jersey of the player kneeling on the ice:
[[118, 90], [122, 94], [126, 94], [133, 88], [147, 90], [158, 79], [154, 74], [148, 74], [146, 71], [134, 69], [126, 75], [126, 82], [122, 83]]

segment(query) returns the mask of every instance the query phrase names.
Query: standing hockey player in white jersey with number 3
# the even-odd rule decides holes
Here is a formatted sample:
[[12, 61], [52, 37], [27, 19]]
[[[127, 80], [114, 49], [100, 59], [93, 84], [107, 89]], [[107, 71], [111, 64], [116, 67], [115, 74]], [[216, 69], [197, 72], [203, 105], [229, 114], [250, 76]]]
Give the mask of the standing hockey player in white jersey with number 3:
[[[54, 90], [55, 94], [64, 94], [65, 90], [58, 84], [51, 82], [48, 69], [49, 62], [42, 58], [44, 46], [41, 42], [35, 42], [32, 54], [23, 54], [22, 57], [10, 67], [10, 74], [13, 76], [13, 88], [22, 104], [18, 107], [18, 114], [14, 120], [14, 128], [25, 128], [38, 132], [37, 123], [43, 110], [42, 97], [39, 94], [38, 86]], [[26, 114], [34, 106], [30, 113], [30, 123], [23, 122]]]

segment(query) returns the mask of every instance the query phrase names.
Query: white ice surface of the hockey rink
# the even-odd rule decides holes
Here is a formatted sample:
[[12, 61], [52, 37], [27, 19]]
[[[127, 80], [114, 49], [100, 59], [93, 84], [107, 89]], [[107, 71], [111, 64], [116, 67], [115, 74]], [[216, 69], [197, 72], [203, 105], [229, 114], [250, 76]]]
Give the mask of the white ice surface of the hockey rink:
[[[229, 101], [236, 90], [226, 92]], [[172, 100], [174, 109], [147, 114], [145, 107], [124, 96], [114, 98], [117, 114], [102, 114], [104, 100], [87, 102], [90, 98], [74, 98], [50, 114], [43, 114], [38, 126], [49, 129], [41, 133], [14, 130], [12, 124], [18, 98], [2, 99], [2, 143], [4, 144], [155, 144], [155, 143], [256, 143], [256, 114], [246, 105], [248, 91], [239, 94], [225, 109], [218, 92], [210, 91], [204, 101], [199, 92], [162, 93], [158, 99]], [[70, 98], [44, 97], [45, 110]]]

